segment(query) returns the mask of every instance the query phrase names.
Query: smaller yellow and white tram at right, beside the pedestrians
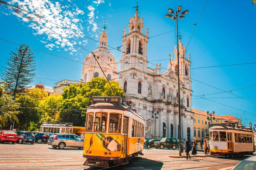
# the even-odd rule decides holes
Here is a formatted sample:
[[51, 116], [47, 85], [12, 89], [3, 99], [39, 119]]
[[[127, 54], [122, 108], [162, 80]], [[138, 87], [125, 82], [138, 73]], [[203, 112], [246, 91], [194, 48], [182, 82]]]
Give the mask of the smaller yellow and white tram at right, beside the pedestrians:
[[209, 129], [209, 148], [212, 156], [241, 157], [254, 152], [253, 132], [230, 123], [216, 123]]

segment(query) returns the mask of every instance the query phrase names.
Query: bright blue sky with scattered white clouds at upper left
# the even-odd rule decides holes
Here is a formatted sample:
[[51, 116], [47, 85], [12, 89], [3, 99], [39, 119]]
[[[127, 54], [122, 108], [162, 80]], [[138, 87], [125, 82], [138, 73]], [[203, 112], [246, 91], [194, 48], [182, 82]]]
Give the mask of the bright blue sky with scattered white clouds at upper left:
[[[155, 68], [155, 63], [161, 63], [162, 72], [168, 67], [169, 54], [176, 44], [176, 23], [164, 15], [169, 13], [168, 8], [176, 10], [181, 5], [182, 11], [189, 10], [185, 18], [178, 20], [178, 27], [187, 55], [191, 54], [192, 107], [237, 118], [245, 111], [241, 117], [243, 125], [248, 125], [248, 121], [256, 123], [256, 5], [251, 5], [251, 0], [138, 2], [139, 16], [144, 20], [143, 33], [147, 27], [149, 31], [148, 61], [152, 64], [148, 67]], [[36, 57], [37, 70], [32, 85], [42, 82], [50, 88], [64, 79], [81, 79], [84, 58], [88, 51], [97, 49], [105, 20], [109, 49], [119, 61], [121, 52], [115, 49], [122, 45], [123, 28], [128, 27], [129, 18], [135, 12], [132, 7], [137, 5], [136, 1], [111, 0], [12, 0], [7, 3], [42, 18], [24, 11], [21, 16], [6, 4], [0, 6], [0, 65], [6, 66], [10, 52], [19, 48], [17, 44], [26, 44], [33, 48]], [[0, 68], [0, 74], [2, 71]]]

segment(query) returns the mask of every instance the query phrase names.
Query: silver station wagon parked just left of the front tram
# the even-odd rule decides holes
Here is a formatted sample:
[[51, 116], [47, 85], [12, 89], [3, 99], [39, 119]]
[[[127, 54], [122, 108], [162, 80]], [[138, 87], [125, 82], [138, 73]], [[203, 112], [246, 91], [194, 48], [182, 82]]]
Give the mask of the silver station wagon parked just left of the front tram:
[[64, 149], [65, 147], [83, 148], [84, 140], [74, 134], [53, 134], [48, 140], [48, 145], [53, 148]]

